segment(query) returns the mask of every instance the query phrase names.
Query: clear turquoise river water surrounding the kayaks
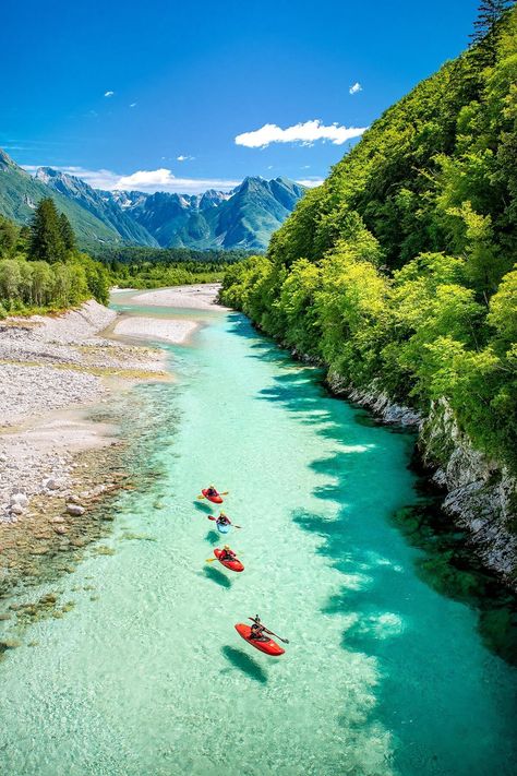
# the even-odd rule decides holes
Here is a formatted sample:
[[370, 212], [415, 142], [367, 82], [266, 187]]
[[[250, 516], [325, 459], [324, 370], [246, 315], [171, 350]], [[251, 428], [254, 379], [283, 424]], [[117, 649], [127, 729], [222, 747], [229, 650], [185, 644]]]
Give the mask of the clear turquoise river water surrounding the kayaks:
[[[516, 671], [390, 520], [418, 500], [412, 439], [358, 422], [241, 317], [201, 318], [177, 382], [136, 390], [164, 418], [141, 452], [158, 476], [120, 499], [116, 554], [60, 581], [75, 609], [0, 665], [0, 773], [515, 772]], [[208, 481], [243, 574], [204, 562]], [[290, 640], [278, 660], [233, 630], [255, 612]]]

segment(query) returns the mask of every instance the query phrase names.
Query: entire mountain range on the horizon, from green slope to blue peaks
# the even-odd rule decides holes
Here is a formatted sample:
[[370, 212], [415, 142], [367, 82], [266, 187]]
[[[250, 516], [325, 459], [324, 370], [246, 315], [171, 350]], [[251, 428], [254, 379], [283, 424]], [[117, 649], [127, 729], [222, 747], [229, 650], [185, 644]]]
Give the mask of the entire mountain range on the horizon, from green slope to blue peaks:
[[123, 243], [263, 251], [304, 192], [288, 178], [260, 177], [229, 192], [101, 191], [51, 167], [33, 177], [0, 150], [0, 213], [26, 224], [38, 201], [52, 196], [80, 246], [93, 251]]

